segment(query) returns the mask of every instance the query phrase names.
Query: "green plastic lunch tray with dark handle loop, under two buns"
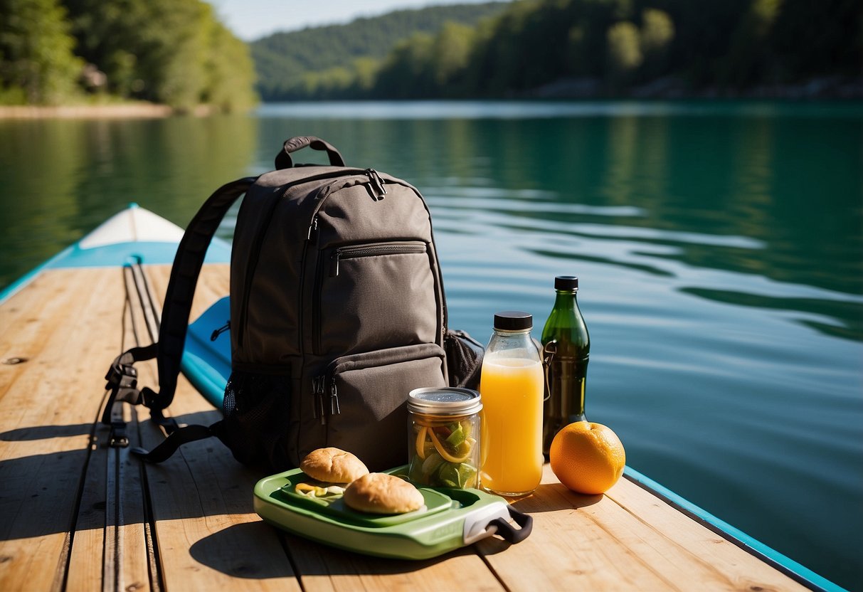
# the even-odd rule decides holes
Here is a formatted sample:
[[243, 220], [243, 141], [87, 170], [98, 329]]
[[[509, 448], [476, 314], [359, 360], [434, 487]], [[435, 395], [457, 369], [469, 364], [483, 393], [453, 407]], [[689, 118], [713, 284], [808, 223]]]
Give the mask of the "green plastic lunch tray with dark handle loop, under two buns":
[[[386, 471], [405, 475], [406, 467]], [[479, 489], [418, 487], [425, 506], [401, 514], [356, 512], [341, 496], [318, 500], [294, 492], [313, 482], [299, 469], [261, 479], [255, 512], [263, 520], [301, 537], [377, 557], [427, 559], [494, 534], [518, 543], [531, 532], [532, 518]], [[520, 528], [513, 528], [512, 519]]]

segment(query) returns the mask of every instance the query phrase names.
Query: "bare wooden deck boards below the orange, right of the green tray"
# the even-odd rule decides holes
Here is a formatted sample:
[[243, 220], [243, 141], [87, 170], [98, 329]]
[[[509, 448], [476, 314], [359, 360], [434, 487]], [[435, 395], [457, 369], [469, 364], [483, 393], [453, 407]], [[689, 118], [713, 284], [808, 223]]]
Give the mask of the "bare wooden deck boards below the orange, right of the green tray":
[[545, 465], [538, 492], [515, 506], [532, 514], [532, 535], [506, 553], [479, 545], [511, 589], [803, 589], [625, 479], [575, 494]]

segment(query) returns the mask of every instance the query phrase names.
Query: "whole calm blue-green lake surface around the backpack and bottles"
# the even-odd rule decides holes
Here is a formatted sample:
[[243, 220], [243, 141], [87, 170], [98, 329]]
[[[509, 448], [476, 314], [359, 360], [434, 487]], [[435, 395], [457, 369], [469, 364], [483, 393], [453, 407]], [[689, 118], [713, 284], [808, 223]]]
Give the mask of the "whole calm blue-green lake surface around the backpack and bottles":
[[0, 121], [0, 287], [129, 201], [185, 225], [217, 186], [271, 169], [291, 135], [419, 187], [450, 325], [481, 341], [499, 310], [544, 323], [554, 276], [578, 275], [587, 414], [620, 435], [627, 463], [863, 589], [863, 105]]

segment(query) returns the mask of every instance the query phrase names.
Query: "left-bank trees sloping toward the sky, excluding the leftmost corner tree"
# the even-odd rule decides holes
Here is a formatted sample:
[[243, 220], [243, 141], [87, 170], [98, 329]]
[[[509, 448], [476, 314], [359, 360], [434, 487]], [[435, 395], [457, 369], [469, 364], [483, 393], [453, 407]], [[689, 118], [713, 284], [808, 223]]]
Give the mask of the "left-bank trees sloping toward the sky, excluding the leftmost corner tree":
[[66, 0], [80, 54], [107, 90], [192, 110], [248, 108], [255, 102], [248, 47], [200, 0]]

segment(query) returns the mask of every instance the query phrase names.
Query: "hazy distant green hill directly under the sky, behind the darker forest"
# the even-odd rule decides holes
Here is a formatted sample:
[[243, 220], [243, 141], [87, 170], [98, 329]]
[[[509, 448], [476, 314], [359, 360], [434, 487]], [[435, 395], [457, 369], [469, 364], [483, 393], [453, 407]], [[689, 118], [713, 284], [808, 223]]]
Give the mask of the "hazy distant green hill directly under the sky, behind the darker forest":
[[397, 10], [350, 24], [276, 33], [251, 45], [257, 90], [265, 101], [307, 97], [324, 79], [339, 79], [378, 62], [415, 34], [436, 35], [447, 22], [473, 26], [497, 16], [506, 2]]

